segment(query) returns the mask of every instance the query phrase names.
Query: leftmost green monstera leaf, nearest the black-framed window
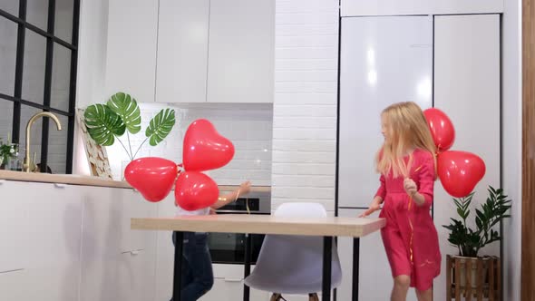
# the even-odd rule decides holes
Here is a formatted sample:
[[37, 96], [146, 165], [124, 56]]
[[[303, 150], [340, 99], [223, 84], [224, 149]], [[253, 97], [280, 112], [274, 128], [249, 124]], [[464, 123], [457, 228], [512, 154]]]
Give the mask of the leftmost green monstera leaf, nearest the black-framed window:
[[126, 130], [121, 117], [107, 105], [92, 104], [83, 113], [85, 126], [91, 138], [102, 146], [110, 146], [114, 136], [121, 136]]

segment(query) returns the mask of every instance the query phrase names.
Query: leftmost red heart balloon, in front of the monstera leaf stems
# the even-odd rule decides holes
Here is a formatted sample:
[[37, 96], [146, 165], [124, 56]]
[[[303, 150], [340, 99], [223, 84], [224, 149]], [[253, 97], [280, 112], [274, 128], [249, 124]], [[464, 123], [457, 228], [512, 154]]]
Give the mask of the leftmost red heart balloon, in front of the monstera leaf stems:
[[165, 199], [177, 179], [177, 164], [157, 157], [131, 161], [124, 170], [124, 178], [141, 192], [144, 199], [157, 202]]

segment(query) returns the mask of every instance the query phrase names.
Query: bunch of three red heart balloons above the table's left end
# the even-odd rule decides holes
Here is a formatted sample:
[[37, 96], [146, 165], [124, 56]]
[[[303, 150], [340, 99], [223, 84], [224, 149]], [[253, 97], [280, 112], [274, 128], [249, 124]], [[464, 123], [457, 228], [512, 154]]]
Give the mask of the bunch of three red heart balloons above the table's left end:
[[234, 145], [221, 136], [205, 119], [193, 121], [183, 141], [181, 164], [158, 157], [132, 160], [124, 177], [144, 199], [158, 202], [167, 197], [175, 184], [175, 204], [186, 210], [207, 208], [218, 200], [219, 188], [202, 173], [229, 163]]

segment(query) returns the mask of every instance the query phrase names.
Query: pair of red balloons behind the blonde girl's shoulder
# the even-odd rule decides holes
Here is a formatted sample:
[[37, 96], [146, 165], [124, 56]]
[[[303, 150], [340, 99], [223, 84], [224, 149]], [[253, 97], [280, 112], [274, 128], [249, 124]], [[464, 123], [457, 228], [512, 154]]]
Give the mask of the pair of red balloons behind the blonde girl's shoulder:
[[468, 196], [485, 175], [485, 162], [472, 152], [450, 150], [455, 129], [444, 112], [432, 108], [423, 114], [437, 148], [438, 177], [443, 188], [455, 198]]

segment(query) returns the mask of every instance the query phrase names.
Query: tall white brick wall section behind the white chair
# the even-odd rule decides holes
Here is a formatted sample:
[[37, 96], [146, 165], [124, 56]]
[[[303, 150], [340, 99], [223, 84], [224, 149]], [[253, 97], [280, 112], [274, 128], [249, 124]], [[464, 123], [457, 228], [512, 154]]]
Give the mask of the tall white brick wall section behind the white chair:
[[277, 0], [272, 207], [335, 210], [337, 0]]

